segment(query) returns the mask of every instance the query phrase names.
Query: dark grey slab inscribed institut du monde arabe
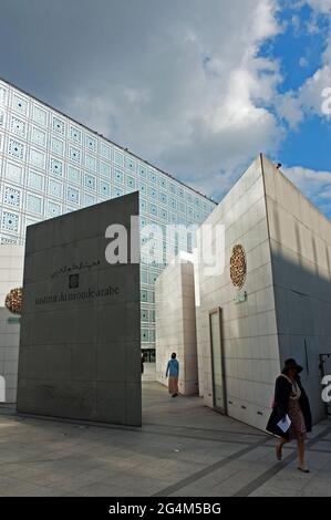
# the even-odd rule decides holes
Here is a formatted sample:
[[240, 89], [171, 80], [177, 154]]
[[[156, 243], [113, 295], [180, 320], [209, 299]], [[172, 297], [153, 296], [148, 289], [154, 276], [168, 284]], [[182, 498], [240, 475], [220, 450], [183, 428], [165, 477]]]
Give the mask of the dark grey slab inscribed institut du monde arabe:
[[139, 264], [104, 238], [132, 215], [136, 193], [28, 228], [19, 412], [141, 425]]

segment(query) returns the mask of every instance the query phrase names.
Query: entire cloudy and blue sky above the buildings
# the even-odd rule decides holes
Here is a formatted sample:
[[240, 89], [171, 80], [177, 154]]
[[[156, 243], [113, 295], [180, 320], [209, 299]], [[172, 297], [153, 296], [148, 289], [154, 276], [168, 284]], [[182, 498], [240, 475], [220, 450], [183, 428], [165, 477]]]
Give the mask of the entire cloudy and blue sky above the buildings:
[[262, 152], [331, 217], [331, 0], [0, 0], [0, 76], [217, 201]]

